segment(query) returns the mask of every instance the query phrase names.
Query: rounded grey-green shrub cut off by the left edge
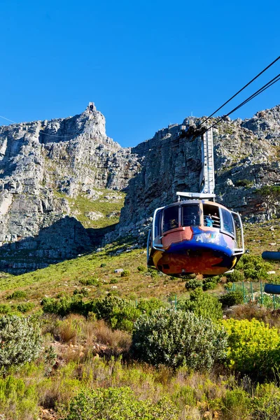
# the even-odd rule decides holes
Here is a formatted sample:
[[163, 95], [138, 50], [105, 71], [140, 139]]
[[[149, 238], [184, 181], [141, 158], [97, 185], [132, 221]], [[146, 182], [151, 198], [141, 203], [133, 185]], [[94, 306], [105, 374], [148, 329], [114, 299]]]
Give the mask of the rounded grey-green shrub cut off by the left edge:
[[31, 318], [0, 318], [0, 366], [22, 365], [34, 360], [41, 351], [41, 331]]

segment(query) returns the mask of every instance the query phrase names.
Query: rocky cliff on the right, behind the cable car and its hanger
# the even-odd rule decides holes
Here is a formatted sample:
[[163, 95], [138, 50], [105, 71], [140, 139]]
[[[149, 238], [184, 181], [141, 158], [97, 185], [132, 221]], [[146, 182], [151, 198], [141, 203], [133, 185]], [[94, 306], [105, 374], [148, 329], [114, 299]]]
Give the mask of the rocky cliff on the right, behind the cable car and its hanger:
[[[202, 120], [186, 118], [182, 125], [198, 125]], [[211, 118], [209, 125], [217, 120]], [[176, 191], [199, 191], [201, 141], [179, 139], [182, 125], [169, 125], [132, 148], [132, 153], [141, 157], [141, 172], [129, 182], [118, 235], [146, 237], [157, 207], [176, 201]], [[217, 125], [214, 165], [216, 201], [239, 211], [247, 221], [264, 220], [267, 204], [255, 191], [280, 185], [280, 106], [248, 120], [226, 118]], [[279, 213], [279, 202], [274, 203], [272, 213]], [[107, 235], [106, 241], [114, 235]]]

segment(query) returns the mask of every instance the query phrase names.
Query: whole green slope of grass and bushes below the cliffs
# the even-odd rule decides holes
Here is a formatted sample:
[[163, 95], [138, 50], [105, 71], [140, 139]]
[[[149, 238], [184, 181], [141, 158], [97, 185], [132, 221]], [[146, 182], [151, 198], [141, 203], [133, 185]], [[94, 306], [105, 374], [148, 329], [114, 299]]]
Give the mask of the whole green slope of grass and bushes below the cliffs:
[[155, 420], [278, 418], [279, 314], [260, 301], [228, 309], [240, 296], [225, 295], [225, 286], [279, 281], [279, 263], [260, 258], [278, 248], [279, 226], [247, 225], [249, 253], [235, 276], [188, 280], [206, 291], [146, 269], [146, 252], [134, 241], [20, 276], [1, 274], [0, 312], [32, 314], [43, 348], [21, 367], [2, 365], [0, 414], [75, 420], [82, 410], [85, 419], [102, 419], [116, 397], [108, 419], [134, 419], [137, 410]]

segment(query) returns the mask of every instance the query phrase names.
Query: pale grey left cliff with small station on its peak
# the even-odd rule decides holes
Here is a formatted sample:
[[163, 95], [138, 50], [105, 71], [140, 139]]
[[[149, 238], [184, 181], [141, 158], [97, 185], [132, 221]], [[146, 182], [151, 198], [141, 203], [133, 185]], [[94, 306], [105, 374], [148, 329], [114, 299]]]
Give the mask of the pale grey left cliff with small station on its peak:
[[23, 272], [91, 250], [100, 236], [92, 221], [118, 220], [114, 211], [90, 211], [94, 203], [103, 201], [105, 213], [106, 205], [120, 207], [120, 191], [138, 171], [136, 155], [106, 136], [95, 108], [0, 127], [0, 271]]

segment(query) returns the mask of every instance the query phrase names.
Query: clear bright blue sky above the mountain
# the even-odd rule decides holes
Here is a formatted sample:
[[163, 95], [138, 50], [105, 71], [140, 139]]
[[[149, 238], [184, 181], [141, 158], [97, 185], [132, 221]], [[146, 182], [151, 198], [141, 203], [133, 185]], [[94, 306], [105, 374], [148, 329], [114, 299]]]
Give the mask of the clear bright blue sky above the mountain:
[[[0, 115], [61, 118], [93, 101], [134, 146], [209, 115], [279, 56], [279, 15], [277, 0], [2, 0]], [[221, 115], [278, 73], [280, 60]], [[280, 82], [233, 118], [279, 103]]]

